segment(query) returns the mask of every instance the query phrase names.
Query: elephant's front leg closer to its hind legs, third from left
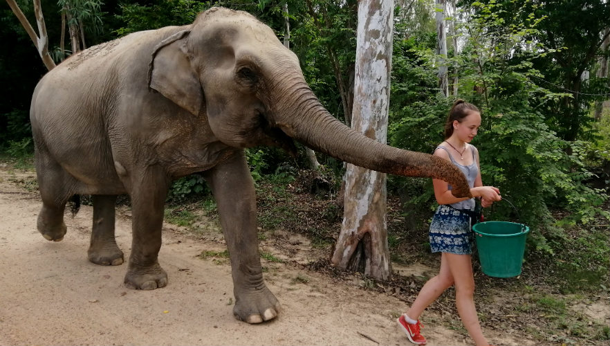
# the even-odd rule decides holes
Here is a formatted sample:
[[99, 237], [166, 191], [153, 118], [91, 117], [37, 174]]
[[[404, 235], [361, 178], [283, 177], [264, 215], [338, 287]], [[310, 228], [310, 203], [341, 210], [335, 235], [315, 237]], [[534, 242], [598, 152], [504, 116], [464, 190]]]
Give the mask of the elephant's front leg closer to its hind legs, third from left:
[[161, 167], [148, 167], [132, 176], [129, 191], [133, 240], [124, 283], [129, 289], [165, 287], [167, 273], [159, 265], [158, 254], [169, 179]]

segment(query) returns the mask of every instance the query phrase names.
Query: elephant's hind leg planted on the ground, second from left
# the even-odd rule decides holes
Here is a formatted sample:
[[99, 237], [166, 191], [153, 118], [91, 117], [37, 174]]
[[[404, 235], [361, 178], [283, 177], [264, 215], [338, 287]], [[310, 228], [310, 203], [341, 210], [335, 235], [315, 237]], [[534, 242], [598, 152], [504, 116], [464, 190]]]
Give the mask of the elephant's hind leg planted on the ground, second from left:
[[100, 266], [118, 266], [124, 262], [123, 252], [114, 238], [116, 196], [93, 195], [93, 228], [89, 261]]

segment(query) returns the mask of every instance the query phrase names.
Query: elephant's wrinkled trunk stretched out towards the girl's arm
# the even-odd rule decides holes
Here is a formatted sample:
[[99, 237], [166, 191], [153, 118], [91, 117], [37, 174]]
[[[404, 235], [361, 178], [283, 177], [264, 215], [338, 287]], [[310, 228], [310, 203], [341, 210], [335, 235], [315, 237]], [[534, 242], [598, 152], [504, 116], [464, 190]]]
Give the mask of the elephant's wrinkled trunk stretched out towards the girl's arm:
[[312, 149], [378, 172], [441, 179], [455, 197], [472, 197], [464, 174], [438, 156], [379, 143], [331, 116], [304, 80], [283, 93], [275, 109], [275, 126]]

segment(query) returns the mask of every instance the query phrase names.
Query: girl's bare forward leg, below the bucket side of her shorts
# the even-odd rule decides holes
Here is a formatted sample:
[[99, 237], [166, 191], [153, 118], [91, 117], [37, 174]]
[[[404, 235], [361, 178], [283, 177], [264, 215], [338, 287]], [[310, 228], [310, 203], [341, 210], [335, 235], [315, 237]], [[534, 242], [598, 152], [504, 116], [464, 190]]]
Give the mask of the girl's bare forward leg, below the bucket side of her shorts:
[[477, 346], [489, 345], [474, 307], [474, 275], [470, 255], [443, 253], [449, 265], [449, 270], [455, 281], [455, 305], [468, 334]]

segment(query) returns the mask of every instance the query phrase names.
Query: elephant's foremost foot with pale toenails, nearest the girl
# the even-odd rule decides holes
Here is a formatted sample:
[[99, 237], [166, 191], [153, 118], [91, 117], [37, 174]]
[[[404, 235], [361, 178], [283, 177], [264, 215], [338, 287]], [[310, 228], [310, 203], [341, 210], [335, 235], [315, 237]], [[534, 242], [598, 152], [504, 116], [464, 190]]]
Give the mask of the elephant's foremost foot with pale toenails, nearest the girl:
[[[244, 290], [245, 291], [245, 290]], [[236, 292], [233, 315], [250, 324], [272, 320], [281, 309], [281, 304], [267, 286], [256, 291]]]

